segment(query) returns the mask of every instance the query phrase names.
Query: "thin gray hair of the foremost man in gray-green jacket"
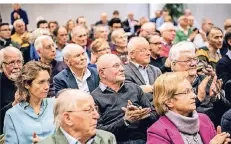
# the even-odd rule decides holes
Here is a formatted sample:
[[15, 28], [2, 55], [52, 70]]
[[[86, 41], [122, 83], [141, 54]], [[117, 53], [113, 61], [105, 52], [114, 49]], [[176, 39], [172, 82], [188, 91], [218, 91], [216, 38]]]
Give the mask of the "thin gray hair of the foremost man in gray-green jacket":
[[78, 100], [92, 96], [84, 91], [77, 89], [63, 89], [57, 94], [54, 105], [54, 123], [60, 127], [62, 123], [62, 114], [67, 111], [73, 111], [78, 108]]

